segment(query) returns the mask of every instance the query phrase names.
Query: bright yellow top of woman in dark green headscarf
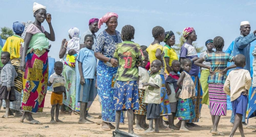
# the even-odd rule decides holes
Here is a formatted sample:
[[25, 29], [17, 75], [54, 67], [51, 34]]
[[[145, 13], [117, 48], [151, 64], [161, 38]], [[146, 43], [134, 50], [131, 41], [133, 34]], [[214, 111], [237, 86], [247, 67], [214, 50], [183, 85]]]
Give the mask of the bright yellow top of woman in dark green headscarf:
[[[173, 60], [179, 60], [179, 57], [177, 55], [177, 53], [175, 52], [174, 49], [172, 49], [171, 47], [169, 47], [168, 45], [165, 45], [163, 47], [163, 51], [164, 51], [164, 57], [169, 57], [169, 66], [172, 66], [172, 61]], [[165, 62], [165, 59], [164, 60], [164, 63], [166, 64]], [[165, 65], [165, 73], [169, 75], [169, 72], [166, 70], [166, 65]]]

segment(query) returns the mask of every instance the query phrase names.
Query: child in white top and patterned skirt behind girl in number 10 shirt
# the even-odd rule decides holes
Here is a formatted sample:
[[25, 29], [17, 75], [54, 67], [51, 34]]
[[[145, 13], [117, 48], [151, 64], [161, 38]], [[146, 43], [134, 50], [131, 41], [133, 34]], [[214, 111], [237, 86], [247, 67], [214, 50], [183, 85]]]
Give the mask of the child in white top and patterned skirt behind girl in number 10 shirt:
[[143, 83], [148, 83], [150, 76], [145, 69], [148, 63], [148, 53], [144, 51], [143, 55], [145, 59], [142, 60], [141, 66], [139, 67], [139, 109], [134, 110], [134, 114], [137, 115], [136, 125], [134, 127], [135, 130], [145, 130], [145, 128], [147, 128], [147, 126], [145, 126], [147, 108], [146, 103], [143, 102], [146, 88], [143, 87]]

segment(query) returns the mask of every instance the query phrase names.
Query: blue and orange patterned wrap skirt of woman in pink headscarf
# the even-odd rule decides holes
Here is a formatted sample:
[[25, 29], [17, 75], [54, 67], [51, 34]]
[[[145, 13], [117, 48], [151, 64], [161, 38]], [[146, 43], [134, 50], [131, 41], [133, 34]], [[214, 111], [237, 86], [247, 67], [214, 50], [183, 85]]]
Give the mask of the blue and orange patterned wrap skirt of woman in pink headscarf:
[[202, 108], [202, 88], [201, 88], [201, 83], [198, 78], [198, 76], [191, 76], [194, 85], [195, 85], [195, 98], [194, 98], [194, 103], [193, 106], [195, 107], [195, 118], [193, 120], [188, 120], [187, 122], [198, 122], [200, 118], [200, 113], [201, 113], [201, 108]]

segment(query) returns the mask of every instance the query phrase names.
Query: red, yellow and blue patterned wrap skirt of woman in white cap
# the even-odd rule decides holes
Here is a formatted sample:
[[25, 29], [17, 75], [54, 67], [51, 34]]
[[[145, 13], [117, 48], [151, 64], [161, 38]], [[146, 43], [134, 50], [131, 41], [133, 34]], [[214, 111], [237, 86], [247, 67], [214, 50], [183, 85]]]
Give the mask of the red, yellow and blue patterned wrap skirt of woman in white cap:
[[48, 83], [48, 52], [34, 50], [26, 55], [23, 72], [22, 111], [43, 112]]

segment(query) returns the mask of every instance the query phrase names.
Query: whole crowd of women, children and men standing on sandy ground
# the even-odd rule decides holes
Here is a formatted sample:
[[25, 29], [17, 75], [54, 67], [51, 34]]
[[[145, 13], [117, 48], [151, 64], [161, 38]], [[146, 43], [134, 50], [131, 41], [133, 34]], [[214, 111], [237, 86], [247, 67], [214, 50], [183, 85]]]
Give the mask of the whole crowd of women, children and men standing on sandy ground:
[[[196, 31], [186, 27], [186, 43], [178, 56], [172, 48], [172, 31], [156, 26], [152, 29], [153, 42], [140, 46], [132, 41], [134, 27], [125, 25], [120, 33], [116, 30], [118, 14], [108, 12], [100, 19], [91, 18], [89, 29], [81, 36], [78, 28], [69, 29], [70, 40], [62, 40], [61, 60], [55, 62], [55, 73], [48, 79], [49, 40], [55, 41], [51, 14], [38, 3], [34, 3], [33, 13], [34, 22], [13, 23], [15, 35], [8, 37], [1, 52], [0, 107], [6, 108], [3, 118], [15, 113], [20, 122], [39, 124], [32, 113], [43, 111], [47, 86], [52, 86], [51, 123], [63, 122], [58, 119], [60, 113], [78, 114], [79, 124], [94, 123], [90, 119], [95, 117], [88, 111], [99, 95], [102, 122], [97, 124], [102, 124], [102, 130], [119, 130], [127, 112], [130, 134], [134, 134], [133, 130], [189, 131], [200, 127], [195, 123], [202, 104], [206, 104], [212, 116], [211, 134], [224, 136], [218, 131], [218, 123], [227, 114], [230, 95], [230, 137], [237, 128], [242, 137], [243, 128], [254, 129], [245, 123], [252, 83], [250, 43], [256, 40], [256, 30], [250, 33], [248, 21], [240, 24], [241, 34], [234, 41], [232, 54], [223, 51], [224, 39], [217, 36], [206, 41], [207, 50], [198, 57], [192, 45], [197, 40]], [[41, 26], [44, 20], [50, 32]], [[104, 23], [106, 29], [96, 36]], [[228, 62], [234, 64], [228, 66]], [[227, 76], [228, 70], [232, 71]], [[174, 124], [176, 118], [179, 122]]]

